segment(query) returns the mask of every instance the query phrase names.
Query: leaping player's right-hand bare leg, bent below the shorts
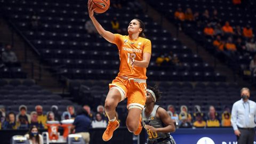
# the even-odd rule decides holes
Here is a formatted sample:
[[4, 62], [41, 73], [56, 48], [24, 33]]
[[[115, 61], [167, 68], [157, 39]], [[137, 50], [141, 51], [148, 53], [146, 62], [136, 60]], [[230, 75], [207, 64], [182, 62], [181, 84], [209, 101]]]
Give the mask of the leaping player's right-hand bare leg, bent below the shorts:
[[[138, 128], [140, 128], [141, 112], [142, 112], [142, 110], [139, 107], [133, 107], [133, 108], [129, 109], [129, 113], [126, 118], [126, 126], [130, 132], [136, 132], [138, 130]], [[137, 134], [135, 134], [135, 135], [137, 135]]]

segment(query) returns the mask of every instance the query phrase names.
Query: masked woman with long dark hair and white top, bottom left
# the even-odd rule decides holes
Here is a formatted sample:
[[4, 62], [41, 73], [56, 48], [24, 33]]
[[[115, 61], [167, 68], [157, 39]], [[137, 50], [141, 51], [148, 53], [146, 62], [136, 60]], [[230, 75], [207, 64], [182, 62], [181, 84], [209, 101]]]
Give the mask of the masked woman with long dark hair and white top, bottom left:
[[43, 136], [39, 133], [38, 127], [33, 125], [25, 137], [28, 139], [30, 144], [43, 144]]

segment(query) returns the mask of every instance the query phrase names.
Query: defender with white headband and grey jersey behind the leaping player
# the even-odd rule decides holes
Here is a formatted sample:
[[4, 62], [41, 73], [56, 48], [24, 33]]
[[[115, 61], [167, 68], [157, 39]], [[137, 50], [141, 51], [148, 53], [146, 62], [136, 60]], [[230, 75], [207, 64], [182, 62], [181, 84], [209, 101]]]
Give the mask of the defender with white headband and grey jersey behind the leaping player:
[[146, 144], [175, 144], [174, 139], [169, 134], [175, 131], [171, 117], [165, 109], [155, 105], [160, 97], [161, 92], [159, 92], [157, 86], [149, 86], [146, 108], [142, 110], [142, 124], [148, 133]]

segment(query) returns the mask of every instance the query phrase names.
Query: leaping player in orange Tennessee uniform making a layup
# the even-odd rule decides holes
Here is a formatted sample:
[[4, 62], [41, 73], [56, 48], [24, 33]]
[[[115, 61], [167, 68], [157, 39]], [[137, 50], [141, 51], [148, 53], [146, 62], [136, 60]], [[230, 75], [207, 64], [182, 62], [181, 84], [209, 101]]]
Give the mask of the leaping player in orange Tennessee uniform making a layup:
[[115, 118], [115, 109], [118, 102], [127, 98], [126, 126], [135, 135], [140, 134], [141, 111], [146, 102], [146, 68], [151, 57], [151, 42], [144, 38], [144, 23], [139, 19], [133, 19], [127, 28], [128, 36], [113, 34], [102, 28], [94, 18], [93, 2], [88, 2], [89, 16], [98, 33], [108, 42], [118, 47], [121, 61], [118, 76], [109, 84], [109, 92], [105, 100], [105, 111], [109, 119], [106, 131], [102, 135], [104, 141], [112, 138], [113, 132], [119, 123]]

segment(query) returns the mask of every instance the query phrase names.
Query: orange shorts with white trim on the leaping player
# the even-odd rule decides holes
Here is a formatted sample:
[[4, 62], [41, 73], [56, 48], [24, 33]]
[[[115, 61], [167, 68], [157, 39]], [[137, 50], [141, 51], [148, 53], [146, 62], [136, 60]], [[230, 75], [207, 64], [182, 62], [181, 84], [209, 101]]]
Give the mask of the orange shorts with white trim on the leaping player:
[[121, 93], [121, 101], [127, 98], [127, 109], [144, 108], [147, 97], [146, 79], [117, 76], [109, 84], [109, 89], [117, 89]]

